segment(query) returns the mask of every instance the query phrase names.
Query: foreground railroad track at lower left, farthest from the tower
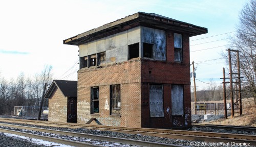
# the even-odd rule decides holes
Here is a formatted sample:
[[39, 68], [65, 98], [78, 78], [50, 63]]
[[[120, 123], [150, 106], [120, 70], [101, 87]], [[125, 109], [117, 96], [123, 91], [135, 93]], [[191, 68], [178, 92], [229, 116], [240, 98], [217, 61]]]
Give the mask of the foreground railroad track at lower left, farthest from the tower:
[[[86, 138], [89, 139], [94, 139], [94, 140], [100, 140], [100, 141], [111, 141], [111, 142], [117, 142], [117, 143], [124, 143], [124, 144], [132, 144], [132, 145], [138, 145], [138, 146], [159, 146], [159, 147], [164, 147], [164, 146], [181, 146], [181, 145], [175, 145], [175, 144], [164, 144], [164, 143], [156, 143], [156, 142], [147, 142], [147, 141], [140, 141], [140, 140], [132, 140], [132, 139], [124, 139], [124, 138], [117, 138], [117, 137], [108, 137], [108, 136], [99, 136], [99, 135], [92, 135], [92, 134], [84, 134], [84, 133], [75, 133], [75, 132], [67, 132], [67, 131], [58, 131], [58, 130], [51, 130], [51, 129], [42, 129], [42, 128], [35, 128], [35, 127], [26, 127], [26, 126], [18, 126], [18, 125], [10, 125], [10, 124], [0, 124], [3, 127], [10, 127], [10, 128], [16, 128], [20, 130], [26, 130], [26, 132], [23, 131], [14, 131], [9, 129], [0, 129], [0, 132], [4, 133], [10, 133], [10, 134], [16, 134], [16, 135], [21, 135], [21, 136], [26, 136], [30, 138], [37, 138], [37, 139], [42, 139], [42, 140], [47, 140], [51, 142], [57, 142], [61, 144], [68, 144], [72, 146], [103, 146], [97, 143], [95, 144], [90, 144], [90, 143], [84, 143], [80, 141], [73, 141], [70, 137], [68, 139], [62, 139], [62, 138], [57, 138], [57, 137], [49, 137], [46, 136], [47, 134], [42, 134], [42, 135], [37, 135], [38, 131], [39, 132], [45, 132], [45, 133], [54, 133], [62, 135], [62, 136], [73, 136], [73, 137], [80, 137], [80, 138]], [[27, 133], [28, 130], [35, 131], [34, 133]], [[31, 132], [29, 131], [29, 132]], [[91, 141], [91, 140], [90, 140]]]

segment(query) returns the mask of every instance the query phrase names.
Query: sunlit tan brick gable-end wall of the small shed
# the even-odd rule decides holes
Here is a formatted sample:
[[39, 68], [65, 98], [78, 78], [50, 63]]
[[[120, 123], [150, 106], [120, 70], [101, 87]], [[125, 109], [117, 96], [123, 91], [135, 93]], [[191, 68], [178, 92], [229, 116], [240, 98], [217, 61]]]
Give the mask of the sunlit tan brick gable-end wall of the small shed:
[[49, 121], [67, 122], [67, 98], [59, 90], [55, 88], [49, 99]]

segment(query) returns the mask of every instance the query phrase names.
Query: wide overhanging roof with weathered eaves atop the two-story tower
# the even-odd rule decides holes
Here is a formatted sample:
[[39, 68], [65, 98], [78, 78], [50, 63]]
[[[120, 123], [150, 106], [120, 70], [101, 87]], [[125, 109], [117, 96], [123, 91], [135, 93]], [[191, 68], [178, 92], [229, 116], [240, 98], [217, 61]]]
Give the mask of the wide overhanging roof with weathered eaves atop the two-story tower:
[[96, 29], [92, 29], [63, 40], [63, 44], [80, 45], [137, 26], [175, 30], [177, 32], [188, 34], [190, 37], [208, 32], [207, 28], [195, 26], [194, 24], [182, 22], [155, 13], [137, 12], [116, 21], [104, 24]]

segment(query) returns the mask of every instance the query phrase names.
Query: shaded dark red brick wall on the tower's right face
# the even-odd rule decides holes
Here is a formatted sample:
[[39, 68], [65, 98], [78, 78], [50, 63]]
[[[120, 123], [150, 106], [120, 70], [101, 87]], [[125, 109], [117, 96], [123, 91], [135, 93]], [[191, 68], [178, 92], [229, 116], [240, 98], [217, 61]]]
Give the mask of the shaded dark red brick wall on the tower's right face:
[[[178, 32], [176, 32], [178, 33]], [[183, 63], [174, 62], [174, 32], [166, 31], [167, 61], [141, 59], [141, 123], [142, 127], [170, 128], [191, 126], [189, 37], [183, 35]], [[150, 117], [148, 84], [163, 84], [164, 117]], [[172, 84], [184, 90], [184, 115], [172, 116]]]

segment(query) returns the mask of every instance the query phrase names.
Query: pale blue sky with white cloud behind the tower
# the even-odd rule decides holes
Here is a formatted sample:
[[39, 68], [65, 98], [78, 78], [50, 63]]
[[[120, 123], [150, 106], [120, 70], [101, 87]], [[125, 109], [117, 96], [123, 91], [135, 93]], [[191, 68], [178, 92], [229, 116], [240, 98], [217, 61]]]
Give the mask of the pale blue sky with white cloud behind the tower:
[[[62, 40], [140, 11], [207, 28], [208, 34], [190, 37], [190, 63], [196, 63], [198, 80], [221, 83], [226, 65], [219, 58], [229, 47], [226, 38], [236, 33], [234, 27], [246, 2], [1, 1], [0, 78], [16, 78], [20, 72], [33, 78], [48, 64], [53, 66], [54, 79], [77, 80], [78, 47], [64, 45]], [[200, 81], [198, 88], [208, 86]]]

